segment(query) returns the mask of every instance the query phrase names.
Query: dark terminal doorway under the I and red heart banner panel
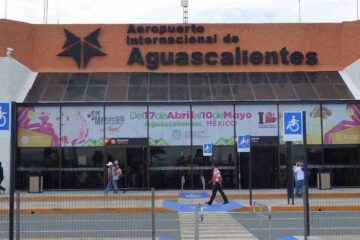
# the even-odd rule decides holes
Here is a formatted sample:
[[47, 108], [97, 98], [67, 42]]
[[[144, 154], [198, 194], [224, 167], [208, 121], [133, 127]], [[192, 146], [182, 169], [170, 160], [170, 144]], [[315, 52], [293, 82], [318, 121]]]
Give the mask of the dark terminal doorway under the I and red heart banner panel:
[[[251, 147], [252, 187], [254, 189], [278, 187], [278, 155], [275, 146]], [[240, 154], [240, 188], [249, 188], [249, 153]]]

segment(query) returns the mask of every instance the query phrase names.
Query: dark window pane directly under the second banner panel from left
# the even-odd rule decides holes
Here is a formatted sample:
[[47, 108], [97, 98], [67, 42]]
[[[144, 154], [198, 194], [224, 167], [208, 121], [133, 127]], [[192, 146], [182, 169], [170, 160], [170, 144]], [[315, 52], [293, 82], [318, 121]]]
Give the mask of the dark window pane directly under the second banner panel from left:
[[104, 167], [102, 148], [63, 148], [61, 167]]

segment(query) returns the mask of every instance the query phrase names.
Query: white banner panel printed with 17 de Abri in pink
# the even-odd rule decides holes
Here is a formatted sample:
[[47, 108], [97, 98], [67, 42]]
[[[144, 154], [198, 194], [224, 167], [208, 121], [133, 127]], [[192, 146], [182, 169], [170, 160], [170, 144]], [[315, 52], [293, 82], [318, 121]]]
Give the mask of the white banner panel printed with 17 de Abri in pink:
[[190, 145], [190, 106], [150, 106], [148, 114], [150, 146]]

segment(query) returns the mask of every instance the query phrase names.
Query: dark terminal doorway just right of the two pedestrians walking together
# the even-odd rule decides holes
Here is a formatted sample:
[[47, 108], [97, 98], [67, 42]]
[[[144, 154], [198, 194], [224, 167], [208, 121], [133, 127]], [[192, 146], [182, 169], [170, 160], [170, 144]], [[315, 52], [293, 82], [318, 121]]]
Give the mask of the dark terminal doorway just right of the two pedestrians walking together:
[[108, 147], [106, 161], [118, 161], [123, 173], [119, 188], [143, 188], [146, 183], [146, 147]]

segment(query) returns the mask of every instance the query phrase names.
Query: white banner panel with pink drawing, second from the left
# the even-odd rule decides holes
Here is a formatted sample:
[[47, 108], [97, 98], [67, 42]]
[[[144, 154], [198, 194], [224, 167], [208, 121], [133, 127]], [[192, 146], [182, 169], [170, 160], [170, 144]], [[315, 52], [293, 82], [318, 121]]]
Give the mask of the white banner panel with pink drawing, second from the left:
[[104, 146], [103, 107], [63, 107], [61, 110], [61, 145]]

